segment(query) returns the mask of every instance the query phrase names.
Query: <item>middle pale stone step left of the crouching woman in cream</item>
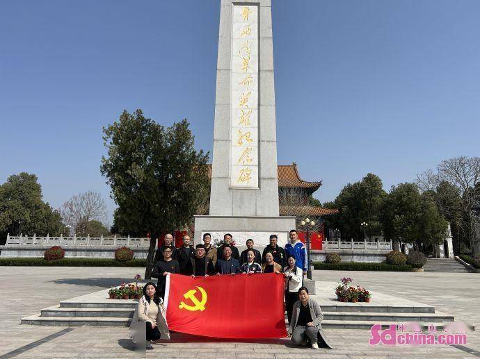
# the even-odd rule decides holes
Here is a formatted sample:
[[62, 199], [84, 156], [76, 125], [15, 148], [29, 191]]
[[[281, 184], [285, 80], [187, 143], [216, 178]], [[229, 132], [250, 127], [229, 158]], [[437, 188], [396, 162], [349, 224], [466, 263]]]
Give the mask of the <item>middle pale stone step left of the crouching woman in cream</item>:
[[131, 318], [133, 308], [60, 308], [53, 306], [42, 309], [41, 317], [105, 317]]

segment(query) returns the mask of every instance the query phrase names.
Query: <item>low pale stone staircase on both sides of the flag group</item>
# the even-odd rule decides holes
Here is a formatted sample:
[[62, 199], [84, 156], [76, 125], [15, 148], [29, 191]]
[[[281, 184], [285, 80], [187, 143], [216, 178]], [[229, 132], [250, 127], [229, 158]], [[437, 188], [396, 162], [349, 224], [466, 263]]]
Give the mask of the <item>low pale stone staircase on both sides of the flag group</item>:
[[[326, 293], [323, 287], [317, 291]], [[335, 283], [328, 284], [333, 288]], [[129, 326], [138, 301], [108, 299], [108, 290], [61, 301], [57, 306], [42, 309], [39, 315], [21, 319], [21, 324], [44, 326]], [[323, 312], [324, 328], [369, 329], [374, 324], [385, 328], [390, 324], [418, 322], [427, 328], [431, 323], [442, 328], [454, 321], [452, 315], [436, 312], [433, 306], [371, 292], [372, 303], [342, 303], [327, 295], [312, 295]], [[287, 324], [287, 320], [285, 320]]]

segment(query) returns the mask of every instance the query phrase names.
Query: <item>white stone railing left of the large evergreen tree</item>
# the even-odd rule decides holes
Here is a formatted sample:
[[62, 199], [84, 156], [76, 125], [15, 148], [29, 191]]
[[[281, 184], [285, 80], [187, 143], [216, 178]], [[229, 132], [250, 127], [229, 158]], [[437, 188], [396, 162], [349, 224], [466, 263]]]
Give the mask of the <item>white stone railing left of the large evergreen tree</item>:
[[136, 238], [136, 237], [37, 237], [33, 235], [32, 237], [26, 235], [20, 235], [19, 237], [12, 237], [9, 234], [7, 235], [7, 245], [37, 245], [37, 246], [98, 246], [98, 247], [149, 247], [150, 238]]

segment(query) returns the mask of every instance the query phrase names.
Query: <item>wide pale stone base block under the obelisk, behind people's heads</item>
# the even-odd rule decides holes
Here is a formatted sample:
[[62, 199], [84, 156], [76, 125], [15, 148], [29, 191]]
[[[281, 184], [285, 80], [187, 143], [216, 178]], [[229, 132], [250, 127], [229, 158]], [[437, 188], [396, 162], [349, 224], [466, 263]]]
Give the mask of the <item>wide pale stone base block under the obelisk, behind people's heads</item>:
[[212, 244], [223, 240], [225, 233], [233, 236], [235, 246], [246, 247], [249, 238], [255, 247], [265, 247], [270, 243], [270, 235], [278, 235], [278, 245], [285, 247], [288, 233], [295, 228], [295, 217], [234, 217], [234, 216], [195, 216], [195, 244], [202, 243], [203, 233], [210, 233]]

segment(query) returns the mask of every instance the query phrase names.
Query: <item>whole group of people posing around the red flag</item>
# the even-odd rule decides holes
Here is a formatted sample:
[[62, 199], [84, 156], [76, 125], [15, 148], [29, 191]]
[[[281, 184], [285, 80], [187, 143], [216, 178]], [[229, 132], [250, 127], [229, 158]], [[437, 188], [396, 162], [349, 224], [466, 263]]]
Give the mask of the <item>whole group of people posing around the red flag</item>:
[[[290, 243], [285, 249], [278, 246], [278, 237], [270, 236], [270, 244], [263, 253], [254, 248], [253, 240], [246, 242], [247, 249], [239, 253], [232, 243], [232, 235], [223, 237], [223, 244], [218, 248], [211, 244], [210, 233], [202, 237], [203, 244], [191, 246], [189, 235], [182, 237], [182, 247], [173, 245], [173, 236], [167, 234], [164, 244], [155, 254], [152, 277], [158, 278], [157, 286], [147, 283], [143, 288], [143, 298], [138, 303], [139, 320], [147, 322], [147, 340], [158, 340], [168, 333], [161, 303], [165, 295], [166, 276], [168, 273], [187, 276], [213, 276], [275, 273], [285, 278], [285, 307], [289, 322], [289, 337], [296, 344], [307, 344], [318, 349], [317, 340], [326, 344], [320, 322], [323, 319], [316, 301], [308, 298], [308, 290], [303, 287], [303, 276], [307, 272], [307, 252], [305, 245], [298, 239], [298, 233], [289, 232]], [[157, 306], [157, 310], [154, 307]], [[163, 308], [164, 310], [164, 308]], [[163, 315], [162, 315], [163, 313]], [[150, 324], [150, 325], [149, 325]], [[160, 328], [159, 328], [160, 325]], [[329, 347], [326, 344], [326, 347]]]

